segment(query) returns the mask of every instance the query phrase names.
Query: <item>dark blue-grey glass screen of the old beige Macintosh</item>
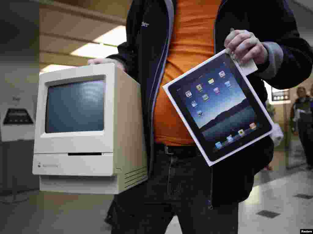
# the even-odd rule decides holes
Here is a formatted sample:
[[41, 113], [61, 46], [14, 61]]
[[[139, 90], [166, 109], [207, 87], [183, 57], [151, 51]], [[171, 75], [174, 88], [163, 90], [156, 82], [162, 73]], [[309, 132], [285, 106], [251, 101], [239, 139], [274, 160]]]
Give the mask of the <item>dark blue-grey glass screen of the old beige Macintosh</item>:
[[50, 86], [46, 133], [104, 130], [105, 80]]

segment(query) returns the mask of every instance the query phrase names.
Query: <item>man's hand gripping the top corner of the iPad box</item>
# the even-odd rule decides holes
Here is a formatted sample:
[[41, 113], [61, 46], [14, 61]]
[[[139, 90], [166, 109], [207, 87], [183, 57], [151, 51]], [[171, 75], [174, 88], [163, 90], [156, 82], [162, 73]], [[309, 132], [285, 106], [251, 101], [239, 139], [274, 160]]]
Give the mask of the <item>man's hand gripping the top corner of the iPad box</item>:
[[233, 30], [225, 39], [224, 46], [226, 53], [237, 60], [239, 64], [244, 64], [250, 59], [254, 59], [255, 64], [264, 64], [269, 57], [269, 53], [258, 38], [247, 30]]

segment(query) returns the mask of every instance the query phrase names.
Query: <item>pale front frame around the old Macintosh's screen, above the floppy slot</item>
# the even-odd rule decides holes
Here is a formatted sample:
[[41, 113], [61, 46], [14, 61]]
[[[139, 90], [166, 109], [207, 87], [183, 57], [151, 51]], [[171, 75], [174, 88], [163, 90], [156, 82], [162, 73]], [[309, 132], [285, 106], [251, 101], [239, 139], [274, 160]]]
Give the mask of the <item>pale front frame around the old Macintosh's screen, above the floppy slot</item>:
[[[82, 153], [113, 152], [113, 105], [114, 105], [113, 63], [96, 66], [81, 66], [40, 75], [35, 127], [36, 153]], [[104, 80], [104, 130], [46, 133], [46, 105], [48, 88], [75, 82]], [[110, 96], [111, 98], [106, 98]], [[104, 140], [105, 139], [105, 140]]]

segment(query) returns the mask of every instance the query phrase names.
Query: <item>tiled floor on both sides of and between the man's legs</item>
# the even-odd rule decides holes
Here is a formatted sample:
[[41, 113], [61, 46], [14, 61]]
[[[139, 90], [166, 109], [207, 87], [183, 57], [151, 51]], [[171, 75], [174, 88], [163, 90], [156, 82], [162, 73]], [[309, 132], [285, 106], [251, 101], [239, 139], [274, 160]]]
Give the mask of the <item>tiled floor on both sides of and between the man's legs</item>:
[[[273, 171], [261, 171], [247, 200], [239, 204], [239, 234], [295, 234], [313, 228], [313, 171], [285, 169], [283, 152], [275, 152]], [[103, 222], [111, 195], [31, 192], [26, 202], [0, 203], [0, 233], [109, 234]], [[1, 197], [0, 197], [1, 199]], [[3, 199], [3, 197], [2, 197]], [[258, 214], [259, 213], [259, 214]], [[270, 218], [260, 214], [277, 216]], [[182, 233], [177, 217], [166, 234]]]

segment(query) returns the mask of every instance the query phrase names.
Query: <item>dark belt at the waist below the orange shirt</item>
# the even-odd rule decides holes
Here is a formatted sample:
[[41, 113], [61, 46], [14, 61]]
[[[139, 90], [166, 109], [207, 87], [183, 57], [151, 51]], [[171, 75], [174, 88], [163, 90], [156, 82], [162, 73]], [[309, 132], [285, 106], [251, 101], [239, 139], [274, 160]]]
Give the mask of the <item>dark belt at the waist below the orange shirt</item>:
[[162, 151], [164, 154], [183, 154], [189, 157], [194, 157], [200, 153], [196, 145], [187, 146], [170, 146], [165, 144], [154, 144], [155, 151]]

